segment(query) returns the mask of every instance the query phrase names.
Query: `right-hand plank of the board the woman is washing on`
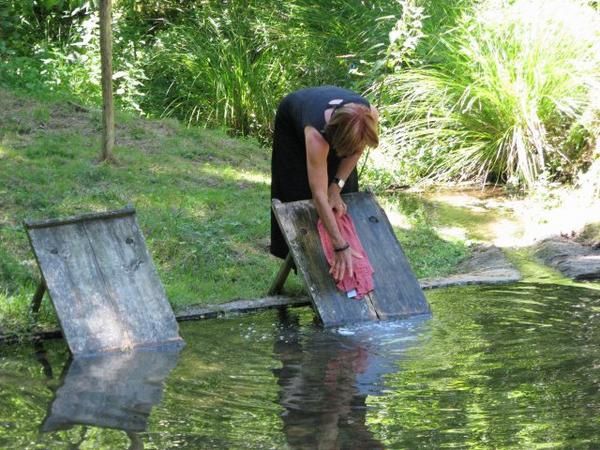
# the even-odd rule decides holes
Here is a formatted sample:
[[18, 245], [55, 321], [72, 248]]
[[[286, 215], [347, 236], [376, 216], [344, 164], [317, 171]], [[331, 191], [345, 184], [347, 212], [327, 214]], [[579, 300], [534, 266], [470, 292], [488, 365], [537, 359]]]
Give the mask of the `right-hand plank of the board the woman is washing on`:
[[348, 194], [344, 200], [375, 271], [371, 298], [379, 317], [393, 319], [430, 312], [392, 225], [373, 194]]

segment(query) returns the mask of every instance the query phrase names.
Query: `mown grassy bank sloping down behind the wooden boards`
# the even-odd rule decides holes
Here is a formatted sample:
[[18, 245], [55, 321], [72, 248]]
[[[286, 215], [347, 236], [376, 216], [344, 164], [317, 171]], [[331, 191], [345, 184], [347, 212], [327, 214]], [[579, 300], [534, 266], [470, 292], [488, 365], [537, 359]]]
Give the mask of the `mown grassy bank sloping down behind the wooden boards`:
[[[0, 331], [30, 322], [39, 275], [22, 221], [126, 204], [175, 307], [265, 295], [280, 264], [268, 253], [269, 150], [171, 120], [119, 113], [116, 122], [118, 164], [97, 164], [99, 110], [0, 89]], [[397, 231], [419, 277], [451, 272], [465, 256], [414, 208], [389, 205], [405, 217]], [[286, 284], [302, 289], [295, 276]], [[54, 324], [44, 304], [42, 323]]]

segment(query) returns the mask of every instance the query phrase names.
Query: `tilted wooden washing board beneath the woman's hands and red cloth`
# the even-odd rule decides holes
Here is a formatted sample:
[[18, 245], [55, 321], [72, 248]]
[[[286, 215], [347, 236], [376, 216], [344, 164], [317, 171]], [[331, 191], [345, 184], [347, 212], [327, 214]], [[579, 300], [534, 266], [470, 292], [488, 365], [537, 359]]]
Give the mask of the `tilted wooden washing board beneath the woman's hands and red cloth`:
[[428, 313], [429, 305], [419, 282], [373, 195], [347, 194], [344, 201], [375, 271], [375, 291], [360, 301], [347, 299], [329, 275], [312, 201], [273, 202], [275, 217], [323, 324], [335, 326]]

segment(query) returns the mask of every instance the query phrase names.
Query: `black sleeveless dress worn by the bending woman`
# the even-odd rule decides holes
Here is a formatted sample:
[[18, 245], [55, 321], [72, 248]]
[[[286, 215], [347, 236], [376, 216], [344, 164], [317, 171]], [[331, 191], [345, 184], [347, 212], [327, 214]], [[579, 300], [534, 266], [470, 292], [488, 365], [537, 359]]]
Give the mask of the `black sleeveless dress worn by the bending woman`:
[[[332, 100], [341, 103], [332, 104]], [[304, 128], [312, 126], [325, 136], [325, 110], [338, 108], [346, 103], [360, 103], [369, 106], [362, 96], [347, 89], [335, 86], [322, 86], [301, 89], [287, 95], [279, 104], [275, 115], [273, 136], [273, 156], [271, 160], [271, 199], [282, 202], [308, 200], [312, 192], [308, 184], [306, 166], [306, 142]], [[329, 182], [335, 177], [341, 158], [334, 148], [329, 148], [327, 174]], [[358, 191], [356, 168], [352, 171], [342, 193]], [[288, 254], [288, 246], [271, 212], [271, 253], [279, 258]]]

